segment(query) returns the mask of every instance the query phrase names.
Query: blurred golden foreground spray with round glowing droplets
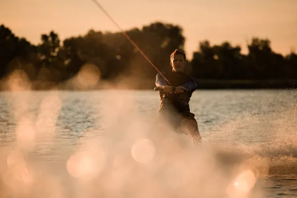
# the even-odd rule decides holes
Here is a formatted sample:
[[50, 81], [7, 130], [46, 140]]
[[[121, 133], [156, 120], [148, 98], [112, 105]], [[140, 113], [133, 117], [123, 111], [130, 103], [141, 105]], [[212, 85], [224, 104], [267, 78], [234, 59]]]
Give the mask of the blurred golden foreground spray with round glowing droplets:
[[[99, 74], [98, 69], [86, 65], [68, 83], [87, 90], [100, 84]], [[144, 116], [135, 106], [137, 98], [133, 94], [117, 91], [115, 84], [104, 85], [113, 90], [104, 92], [94, 106], [104, 131], [85, 131], [76, 137], [79, 144], [70, 144], [71, 152], [59, 150], [65, 153], [59, 159], [61, 165], [51, 166], [32, 156], [39, 151], [47, 154], [46, 158], [54, 158], [47, 148], [55, 147], [59, 139], [73, 140], [71, 133], [57, 134], [63, 99], [53, 89], [38, 102], [26, 74], [20, 70], [12, 73], [5, 83], [11, 92], [5, 94], [16, 126], [8, 146], [1, 148], [1, 198], [265, 197], [260, 181], [269, 174], [271, 161], [269, 155], [259, 155], [263, 154], [263, 145], [205, 143], [193, 148], [188, 137], [184, 139], [169, 129], [158, 131], [155, 112]], [[38, 104], [37, 109], [31, 108], [32, 101]], [[292, 124], [293, 115], [283, 118], [284, 126], [279, 129]], [[234, 133], [239, 125], [230, 122], [220, 130]], [[287, 128], [286, 135], [293, 131], [292, 127]], [[105, 136], [98, 137], [98, 133]], [[292, 145], [296, 147], [294, 141]], [[272, 150], [271, 146], [265, 148]]]

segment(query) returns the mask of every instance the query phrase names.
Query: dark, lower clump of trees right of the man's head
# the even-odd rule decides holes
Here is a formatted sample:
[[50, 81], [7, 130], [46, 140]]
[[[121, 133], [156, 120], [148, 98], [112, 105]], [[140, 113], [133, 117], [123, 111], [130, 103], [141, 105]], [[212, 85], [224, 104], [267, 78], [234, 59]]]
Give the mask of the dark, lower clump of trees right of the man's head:
[[202, 79], [296, 79], [294, 53], [285, 58], [272, 51], [269, 40], [258, 38], [252, 38], [247, 48], [248, 54], [244, 55], [239, 46], [232, 47], [228, 42], [220, 46], [200, 42], [191, 62], [194, 76]]

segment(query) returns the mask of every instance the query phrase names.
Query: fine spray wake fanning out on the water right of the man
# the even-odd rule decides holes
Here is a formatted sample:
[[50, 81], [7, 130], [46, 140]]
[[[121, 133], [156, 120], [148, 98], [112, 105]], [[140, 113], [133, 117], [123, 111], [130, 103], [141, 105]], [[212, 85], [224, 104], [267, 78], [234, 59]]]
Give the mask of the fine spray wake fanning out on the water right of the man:
[[265, 176], [295, 177], [296, 115], [295, 105], [266, 115], [247, 115], [214, 128], [206, 139], [219, 155], [226, 156], [224, 161], [251, 157], [259, 167], [262, 166], [260, 169], [264, 170]]

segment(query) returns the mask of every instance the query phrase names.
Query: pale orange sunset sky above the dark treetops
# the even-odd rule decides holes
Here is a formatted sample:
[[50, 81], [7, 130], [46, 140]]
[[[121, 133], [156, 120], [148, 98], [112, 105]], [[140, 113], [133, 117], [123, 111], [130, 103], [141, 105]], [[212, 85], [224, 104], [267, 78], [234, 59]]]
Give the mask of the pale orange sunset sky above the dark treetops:
[[[251, 37], [282, 54], [297, 50], [297, 0], [98, 0], [123, 28], [155, 21], [180, 25], [189, 57], [198, 43], [229, 41], [246, 53]], [[33, 44], [54, 30], [61, 40], [90, 29], [118, 31], [92, 0], [0, 0], [0, 24]]]

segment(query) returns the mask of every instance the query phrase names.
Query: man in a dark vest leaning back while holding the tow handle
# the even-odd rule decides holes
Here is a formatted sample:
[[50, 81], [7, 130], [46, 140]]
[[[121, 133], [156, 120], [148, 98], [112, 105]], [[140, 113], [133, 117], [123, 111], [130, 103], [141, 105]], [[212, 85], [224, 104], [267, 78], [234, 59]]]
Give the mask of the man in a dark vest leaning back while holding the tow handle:
[[[195, 114], [190, 112], [189, 101], [197, 89], [195, 78], [184, 73], [186, 54], [175, 49], [170, 55], [172, 72], [162, 72], [156, 75], [155, 85], [159, 91], [161, 120], [167, 122], [178, 133], [185, 133], [192, 138], [192, 144], [199, 144], [201, 137]], [[175, 88], [175, 89], [174, 89]]]

